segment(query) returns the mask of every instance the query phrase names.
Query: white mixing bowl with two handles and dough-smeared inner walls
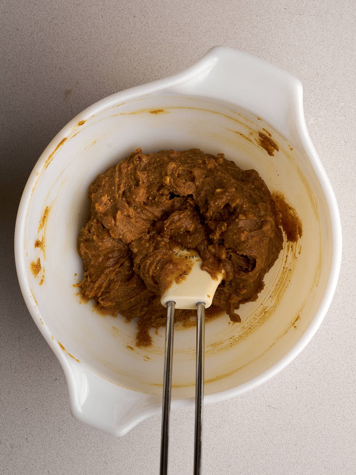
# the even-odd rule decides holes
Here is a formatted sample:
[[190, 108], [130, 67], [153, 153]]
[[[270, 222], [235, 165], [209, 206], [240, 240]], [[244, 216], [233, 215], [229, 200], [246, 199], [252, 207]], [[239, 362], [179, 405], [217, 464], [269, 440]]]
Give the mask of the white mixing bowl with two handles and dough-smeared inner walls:
[[[263, 128], [279, 145], [274, 156], [259, 146]], [[135, 322], [81, 303], [73, 287], [83, 273], [76, 244], [89, 184], [137, 147], [225, 152], [281, 191], [302, 221], [300, 241], [285, 245], [258, 300], [241, 307], [242, 323], [227, 316], [207, 323], [205, 402], [252, 389], [304, 348], [327, 312], [341, 257], [336, 200], [306, 129], [301, 84], [290, 74], [215, 47], [186, 71], [106, 97], [75, 117], [28, 179], [16, 266], [28, 309], [66, 373], [72, 413], [114, 435], [160, 411], [165, 330], [152, 331], [153, 346], [139, 349]], [[181, 407], [194, 401], [195, 329], [176, 331], [174, 344], [172, 407]]]

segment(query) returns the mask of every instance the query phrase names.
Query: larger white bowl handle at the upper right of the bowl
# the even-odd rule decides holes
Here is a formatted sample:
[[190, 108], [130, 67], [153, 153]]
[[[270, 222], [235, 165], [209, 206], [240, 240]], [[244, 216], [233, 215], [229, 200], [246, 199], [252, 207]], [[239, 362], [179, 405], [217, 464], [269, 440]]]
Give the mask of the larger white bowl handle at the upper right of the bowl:
[[304, 117], [303, 89], [296, 77], [234, 48], [216, 46], [173, 78], [171, 90], [236, 104], [291, 141], [297, 118]]

